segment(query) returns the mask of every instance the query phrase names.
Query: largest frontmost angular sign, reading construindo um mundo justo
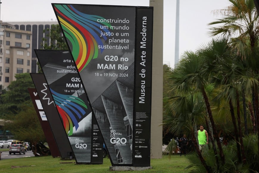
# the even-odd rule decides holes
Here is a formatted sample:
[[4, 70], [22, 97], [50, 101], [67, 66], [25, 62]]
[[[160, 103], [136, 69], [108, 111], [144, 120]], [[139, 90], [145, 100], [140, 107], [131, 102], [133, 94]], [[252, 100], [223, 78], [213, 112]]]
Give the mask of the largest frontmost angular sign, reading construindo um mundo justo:
[[52, 4], [113, 166], [150, 166], [153, 7]]

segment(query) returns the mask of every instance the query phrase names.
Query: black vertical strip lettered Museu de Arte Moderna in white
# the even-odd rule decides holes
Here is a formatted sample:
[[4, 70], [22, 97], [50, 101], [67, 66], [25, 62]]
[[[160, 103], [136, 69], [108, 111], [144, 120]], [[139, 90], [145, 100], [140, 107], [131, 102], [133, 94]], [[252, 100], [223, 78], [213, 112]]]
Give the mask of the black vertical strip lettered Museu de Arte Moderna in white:
[[153, 11], [137, 12], [133, 165], [150, 166]]

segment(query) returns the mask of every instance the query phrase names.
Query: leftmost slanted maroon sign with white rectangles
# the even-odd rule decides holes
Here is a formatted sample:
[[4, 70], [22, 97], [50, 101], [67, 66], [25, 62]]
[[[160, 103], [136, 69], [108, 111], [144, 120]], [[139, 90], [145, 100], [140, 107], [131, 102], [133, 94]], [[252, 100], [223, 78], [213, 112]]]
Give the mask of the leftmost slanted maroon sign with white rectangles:
[[45, 111], [43, 110], [43, 106], [40, 102], [40, 97], [38, 95], [38, 92], [35, 88], [28, 88], [29, 94], [31, 96], [32, 99], [32, 103], [33, 106], [37, 112], [39, 121], [40, 121], [40, 125], [42, 127], [43, 133], [46, 137], [50, 152], [52, 157], [59, 157], [60, 153], [59, 153], [59, 149], [57, 147], [55, 138], [53, 136], [52, 130], [49, 126], [49, 122], [47, 120]]

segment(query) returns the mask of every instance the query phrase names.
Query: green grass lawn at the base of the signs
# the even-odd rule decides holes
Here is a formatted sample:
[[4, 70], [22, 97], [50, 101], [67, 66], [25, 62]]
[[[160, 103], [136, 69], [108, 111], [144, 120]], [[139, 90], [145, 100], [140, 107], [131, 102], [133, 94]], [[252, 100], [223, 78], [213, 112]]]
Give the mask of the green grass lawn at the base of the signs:
[[[0, 160], [0, 170], [1, 172], [110, 172], [111, 163], [107, 157], [104, 158], [103, 164], [99, 165], [71, 162], [75, 160], [61, 160], [52, 156], [5, 159]], [[161, 159], [151, 159], [152, 169], [139, 172], [190, 172], [190, 169], [185, 170], [188, 165], [188, 160], [184, 156], [172, 155], [169, 159], [168, 155], [163, 155]]]

